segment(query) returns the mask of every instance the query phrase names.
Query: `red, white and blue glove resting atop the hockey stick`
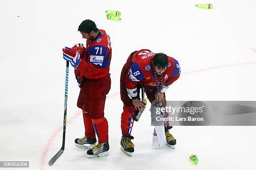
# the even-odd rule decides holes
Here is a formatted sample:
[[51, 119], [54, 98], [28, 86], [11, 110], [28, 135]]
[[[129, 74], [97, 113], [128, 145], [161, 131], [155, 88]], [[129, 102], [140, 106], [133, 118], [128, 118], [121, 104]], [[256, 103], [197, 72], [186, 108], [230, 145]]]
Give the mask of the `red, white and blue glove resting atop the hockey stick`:
[[76, 50], [65, 47], [62, 49], [63, 51], [63, 58], [71, 63], [71, 65], [76, 69], [80, 63], [80, 54]]

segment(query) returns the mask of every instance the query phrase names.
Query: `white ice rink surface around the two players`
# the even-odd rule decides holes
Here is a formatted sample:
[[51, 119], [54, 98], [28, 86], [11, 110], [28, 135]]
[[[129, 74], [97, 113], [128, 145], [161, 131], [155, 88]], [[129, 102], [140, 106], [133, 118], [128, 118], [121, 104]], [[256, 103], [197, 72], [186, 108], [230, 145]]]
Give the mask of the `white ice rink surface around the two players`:
[[[212, 3], [213, 9], [196, 8], [200, 2]], [[108, 9], [120, 10], [122, 21], [106, 20]], [[256, 100], [255, 9], [256, 0], [1, 2], [0, 161], [30, 161], [31, 170], [255, 168], [256, 127], [178, 126], [170, 131], [177, 139], [175, 150], [153, 148], [149, 105], [133, 126], [135, 153], [128, 157], [120, 151], [123, 105], [118, 93], [128, 55], [148, 48], [181, 65], [182, 74], [167, 92], [167, 100]], [[85, 19], [106, 30], [113, 47], [112, 85], [105, 105], [110, 155], [87, 159], [85, 150], [74, 146], [84, 128], [82, 113], [71, 120], [80, 110], [70, 66], [65, 151], [50, 167], [48, 161], [62, 142], [66, 62], [61, 48], [85, 43], [77, 32]], [[211, 67], [215, 68], [207, 70]], [[188, 160], [190, 154], [200, 161], [196, 167]]]

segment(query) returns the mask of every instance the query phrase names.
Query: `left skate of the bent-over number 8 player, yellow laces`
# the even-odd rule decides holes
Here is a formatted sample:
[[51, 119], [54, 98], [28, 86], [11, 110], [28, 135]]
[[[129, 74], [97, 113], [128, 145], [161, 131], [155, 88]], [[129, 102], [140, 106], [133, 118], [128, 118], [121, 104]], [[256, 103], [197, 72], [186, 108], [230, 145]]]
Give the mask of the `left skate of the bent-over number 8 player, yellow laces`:
[[134, 144], [131, 140], [134, 139], [133, 136], [123, 135], [121, 138], [121, 150], [126, 153], [128, 156], [132, 156], [134, 152]]

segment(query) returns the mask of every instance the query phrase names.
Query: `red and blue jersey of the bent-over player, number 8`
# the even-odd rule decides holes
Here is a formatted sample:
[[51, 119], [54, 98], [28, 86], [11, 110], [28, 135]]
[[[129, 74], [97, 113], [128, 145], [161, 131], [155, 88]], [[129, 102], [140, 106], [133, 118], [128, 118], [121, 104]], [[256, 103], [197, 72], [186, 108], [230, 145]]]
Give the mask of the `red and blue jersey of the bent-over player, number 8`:
[[[155, 90], [156, 80], [154, 75], [154, 68], [152, 65], [153, 57], [156, 53], [151, 50], [143, 49], [133, 52], [126, 62], [128, 74], [125, 77], [125, 86], [127, 90], [132, 92], [131, 97], [137, 96], [136, 86], [142, 85], [150, 91]], [[181, 69], [179, 62], [173, 57], [168, 56], [168, 66], [162, 75], [162, 84], [171, 85], [179, 78]], [[158, 82], [160, 76], [157, 77]]]

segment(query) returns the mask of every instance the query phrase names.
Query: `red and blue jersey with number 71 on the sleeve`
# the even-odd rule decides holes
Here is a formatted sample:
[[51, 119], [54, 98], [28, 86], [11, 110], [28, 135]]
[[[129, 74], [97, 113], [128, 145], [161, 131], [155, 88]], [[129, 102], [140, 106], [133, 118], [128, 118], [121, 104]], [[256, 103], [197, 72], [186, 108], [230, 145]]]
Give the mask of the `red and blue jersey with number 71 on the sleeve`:
[[87, 79], [99, 79], [109, 74], [112, 48], [109, 35], [99, 30], [99, 36], [86, 41], [86, 52], [77, 70]]

